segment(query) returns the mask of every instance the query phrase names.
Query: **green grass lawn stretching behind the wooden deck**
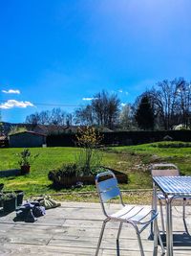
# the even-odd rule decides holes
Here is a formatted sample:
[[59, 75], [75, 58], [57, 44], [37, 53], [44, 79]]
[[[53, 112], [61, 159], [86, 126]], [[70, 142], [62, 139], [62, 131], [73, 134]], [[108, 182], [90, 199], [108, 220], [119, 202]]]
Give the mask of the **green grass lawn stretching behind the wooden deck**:
[[[170, 148], [163, 148], [162, 143], [144, 144], [107, 148], [103, 151], [102, 164], [128, 175], [129, 183], [120, 185], [121, 189], [152, 188], [152, 179], [148, 165], [154, 162], [171, 162], [180, 168], [181, 175], [191, 175], [191, 147], [175, 148], [178, 143], [171, 143]], [[165, 145], [164, 145], [165, 146]], [[92, 192], [95, 186], [84, 186], [74, 190], [55, 190], [48, 179], [49, 171], [59, 167], [62, 163], [75, 161], [80, 149], [76, 148], [32, 148], [33, 154], [39, 156], [32, 164], [30, 175], [0, 178], [6, 190], [24, 190], [27, 197], [32, 195], [55, 194], [71, 192], [64, 199], [89, 200], [90, 196], [76, 195], [75, 192]], [[17, 152], [22, 149], [0, 149], [0, 170], [16, 169], [18, 166]], [[93, 197], [94, 198], [94, 197]]]

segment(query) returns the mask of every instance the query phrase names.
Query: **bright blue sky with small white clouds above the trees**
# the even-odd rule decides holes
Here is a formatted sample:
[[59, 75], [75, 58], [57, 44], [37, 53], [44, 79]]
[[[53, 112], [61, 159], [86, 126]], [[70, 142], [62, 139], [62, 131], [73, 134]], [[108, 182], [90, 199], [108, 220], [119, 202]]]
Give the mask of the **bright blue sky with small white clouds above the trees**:
[[190, 0], [0, 0], [2, 120], [190, 81], [190, 12]]

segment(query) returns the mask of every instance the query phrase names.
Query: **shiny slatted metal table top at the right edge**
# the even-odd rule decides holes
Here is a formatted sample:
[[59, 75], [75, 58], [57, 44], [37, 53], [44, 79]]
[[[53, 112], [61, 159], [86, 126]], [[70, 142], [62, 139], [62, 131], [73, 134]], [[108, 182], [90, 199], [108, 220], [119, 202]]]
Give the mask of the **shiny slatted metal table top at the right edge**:
[[153, 181], [165, 195], [191, 197], [191, 176], [153, 176]]

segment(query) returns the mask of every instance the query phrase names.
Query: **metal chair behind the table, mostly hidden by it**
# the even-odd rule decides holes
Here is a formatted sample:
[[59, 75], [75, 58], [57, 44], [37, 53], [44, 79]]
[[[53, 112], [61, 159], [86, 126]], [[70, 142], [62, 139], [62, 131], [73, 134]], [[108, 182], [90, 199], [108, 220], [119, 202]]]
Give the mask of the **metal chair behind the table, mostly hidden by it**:
[[[179, 176], [180, 175], [179, 168], [175, 164], [171, 164], [171, 163], [153, 164], [151, 165], [150, 169], [151, 169], [152, 176]], [[162, 192], [159, 192], [157, 196], [159, 198], [161, 228], [162, 228], [162, 232], [165, 233], [163, 210], [162, 210], [162, 200], [165, 200], [165, 197], [162, 194]], [[183, 222], [185, 222], [185, 198], [183, 198], [182, 219], [183, 219]]]

